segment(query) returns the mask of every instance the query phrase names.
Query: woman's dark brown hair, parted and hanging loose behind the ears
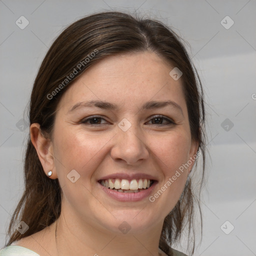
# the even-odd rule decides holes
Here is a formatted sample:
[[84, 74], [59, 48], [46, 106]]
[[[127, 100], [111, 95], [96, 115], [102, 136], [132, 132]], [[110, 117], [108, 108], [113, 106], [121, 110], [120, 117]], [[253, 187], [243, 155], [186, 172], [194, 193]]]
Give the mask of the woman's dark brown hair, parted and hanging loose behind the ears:
[[[67, 84], [70, 86], [78, 75], [102, 58], [145, 50], [155, 52], [183, 73], [182, 88], [188, 110], [191, 137], [198, 141], [198, 149], [202, 154], [202, 181], [205, 165], [205, 135], [201, 82], [179, 36], [157, 20], [133, 17], [122, 12], [105, 11], [81, 18], [65, 28], [49, 48], [35, 78], [30, 98], [30, 124], [39, 123], [41, 131], [51, 136], [56, 106], [68, 87]], [[92, 52], [96, 54], [92, 55]], [[85, 60], [86, 57], [89, 61]], [[79, 63], [80, 69], [77, 67]], [[77, 74], [65, 80], [70, 73], [74, 72], [74, 68]], [[56, 91], [57, 87], [59, 89]], [[53, 91], [56, 93], [52, 93]], [[13, 212], [6, 245], [40, 231], [60, 215], [61, 189], [58, 179], [50, 179], [45, 175], [30, 137], [26, 146], [24, 180], [24, 193]], [[181, 230], [187, 227], [188, 240], [193, 240], [193, 253], [194, 239], [190, 234], [192, 232], [194, 236], [195, 233], [194, 202], [199, 206], [196, 198], [188, 178], [179, 201], [164, 219], [159, 241], [161, 248], [169, 249], [180, 238]], [[21, 220], [29, 226], [24, 234], [15, 229], [16, 223]]]

